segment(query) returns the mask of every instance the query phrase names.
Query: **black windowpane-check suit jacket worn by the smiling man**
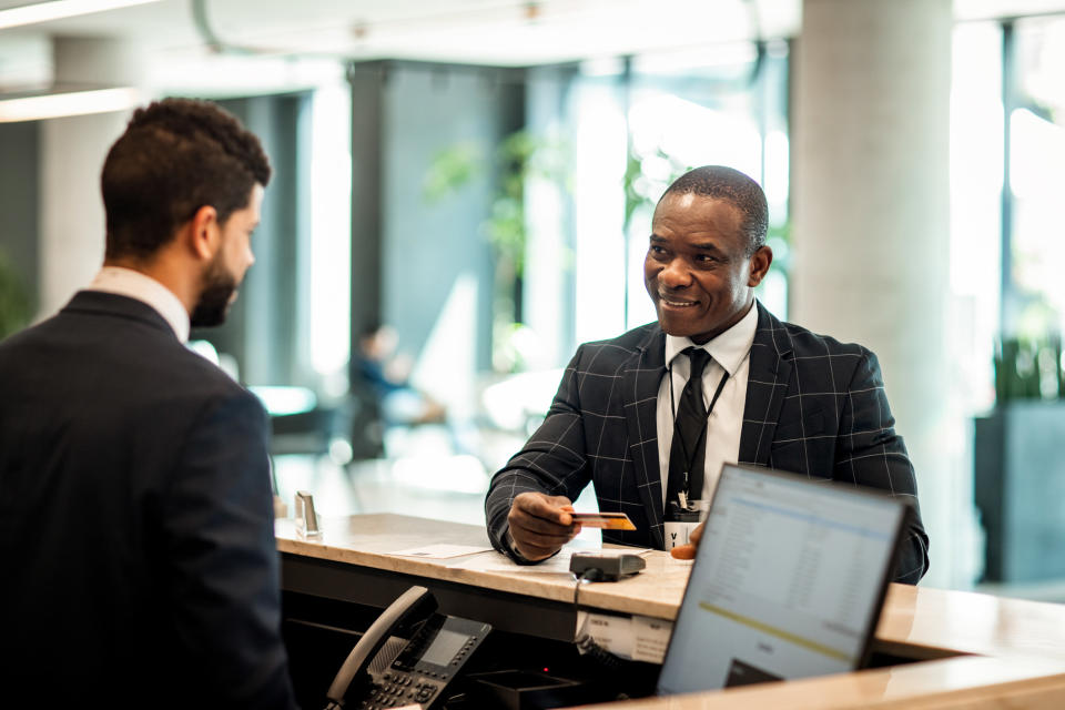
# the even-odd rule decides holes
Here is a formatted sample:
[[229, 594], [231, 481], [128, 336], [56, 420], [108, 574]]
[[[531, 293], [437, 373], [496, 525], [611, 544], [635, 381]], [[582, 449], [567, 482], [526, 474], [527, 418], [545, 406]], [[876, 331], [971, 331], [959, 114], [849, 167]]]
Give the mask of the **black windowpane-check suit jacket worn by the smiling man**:
[[[665, 548], [656, 428], [665, 345], [652, 323], [577, 349], [544, 424], [493, 478], [485, 515], [496, 549], [515, 557], [505, 536], [518, 494], [575, 500], [589, 481], [601, 510], [626, 513], [637, 526], [605, 531], [604, 541]], [[916, 515], [895, 580], [916, 584], [929, 567], [929, 538], [913, 466], [893, 427], [873, 353], [782, 323], [758, 304], [738, 463], [910, 498]]]

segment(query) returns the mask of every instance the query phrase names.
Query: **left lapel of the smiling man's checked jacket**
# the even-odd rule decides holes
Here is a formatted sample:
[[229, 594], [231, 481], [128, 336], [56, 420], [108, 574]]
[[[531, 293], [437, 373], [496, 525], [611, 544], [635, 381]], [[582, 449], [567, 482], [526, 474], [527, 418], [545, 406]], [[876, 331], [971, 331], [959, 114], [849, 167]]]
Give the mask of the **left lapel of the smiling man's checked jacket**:
[[655, 327], [623, 373], [625, 423], [636, 484], [651, 525], [651, 540], [662, 549], [662, 476], [658, 464], [658, 387], [666, 373], [666, 335]]

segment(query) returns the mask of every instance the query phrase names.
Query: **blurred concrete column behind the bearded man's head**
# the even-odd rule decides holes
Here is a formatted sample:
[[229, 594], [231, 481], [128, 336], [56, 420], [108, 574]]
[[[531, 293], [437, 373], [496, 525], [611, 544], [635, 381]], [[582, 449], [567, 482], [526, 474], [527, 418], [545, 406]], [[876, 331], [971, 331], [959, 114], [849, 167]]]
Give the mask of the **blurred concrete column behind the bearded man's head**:
[[[129, 43], [55, 38], [53, 51], [59, 90], [140, 84], [144, 62]], [[100, 170], [128, 120], [129, 112], [114, 112], [42, 122], [38, 317], [62, 307], [103, 263]]]

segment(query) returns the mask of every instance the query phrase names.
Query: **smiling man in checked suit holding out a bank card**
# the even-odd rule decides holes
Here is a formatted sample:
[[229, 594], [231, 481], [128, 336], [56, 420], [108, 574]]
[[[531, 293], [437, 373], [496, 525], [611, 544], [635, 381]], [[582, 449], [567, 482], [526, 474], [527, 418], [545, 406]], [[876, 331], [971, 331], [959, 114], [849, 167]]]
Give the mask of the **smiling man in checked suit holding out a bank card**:
[[[577, 349], [547, 418], [491, 480], [496, 549], [519, 564], [557, 552], [579, 531], [571, 501], [591, 481], [599, 509], [637, 527], [605, 530], [605, 542], [690, 556], [730, 462], [881, 488], [916, 510], [876, 356], [782, 323], [754, 298], [773, 260], [768, 222], [762, 189], [730, 168], [698, 168], [666, 190], [643, 264], [658, 322]], [[913, 520], [895, 581], [927, 571], [920, 513]]]

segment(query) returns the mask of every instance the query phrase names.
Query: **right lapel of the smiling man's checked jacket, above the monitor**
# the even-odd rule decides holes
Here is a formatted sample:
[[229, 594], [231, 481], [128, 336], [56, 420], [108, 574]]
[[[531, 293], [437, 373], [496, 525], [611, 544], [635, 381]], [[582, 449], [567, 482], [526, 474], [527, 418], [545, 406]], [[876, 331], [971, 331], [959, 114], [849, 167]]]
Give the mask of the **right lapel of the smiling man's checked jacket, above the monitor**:
[[780, 408], [791, 379], [792, 348], [783, 324], [761, 303], [757, 305], [758, 331], [751, 347], [739, 463], [768, 466]]

